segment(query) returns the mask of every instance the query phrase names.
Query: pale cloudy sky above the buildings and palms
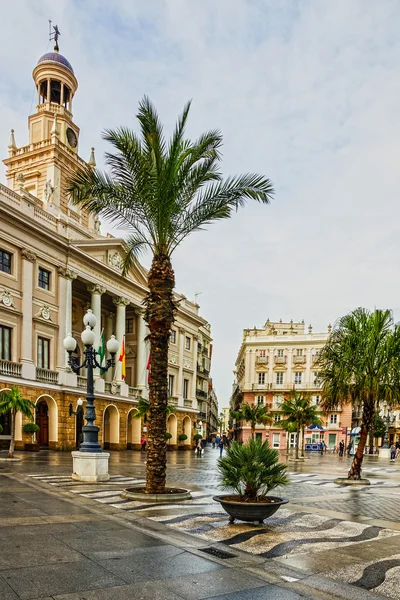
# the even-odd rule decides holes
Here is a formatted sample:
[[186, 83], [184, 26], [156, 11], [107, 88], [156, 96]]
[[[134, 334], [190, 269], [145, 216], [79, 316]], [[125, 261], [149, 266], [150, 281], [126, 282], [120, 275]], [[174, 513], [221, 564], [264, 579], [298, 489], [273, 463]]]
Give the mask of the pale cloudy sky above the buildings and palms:
[[[193, 99], [188, 134], [224, 135], [225, 174], [274, 183], [270, 206], [189, 238], [177, 287], [212, 325], [212, 375], [227, 405], [242, 330], [347, 311], [400, 318], [398, 0], [15, 0], [0, 22], [0, 148], [27, 142], [31, 72], [48, 19], [79, 80], [80, 154], [105, 127], [136, 127], [144, 94], [168, 131]], [[0, 173], [4, 181], [4, 169]], [[397, 207], [397, 208], [396, 208]]]

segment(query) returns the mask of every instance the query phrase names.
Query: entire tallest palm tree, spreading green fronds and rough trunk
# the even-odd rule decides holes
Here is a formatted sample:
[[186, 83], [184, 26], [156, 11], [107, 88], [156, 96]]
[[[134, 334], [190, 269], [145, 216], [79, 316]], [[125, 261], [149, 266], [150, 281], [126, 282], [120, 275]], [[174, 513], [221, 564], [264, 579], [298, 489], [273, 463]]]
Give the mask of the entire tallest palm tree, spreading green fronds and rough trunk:
[[152, 253], [144, 301], [151, 352], [148, 493], [165, 492], [166, 482], [168, 343], [177, 310], [171, 256], [192, 232], [228, 219], [248, 200], [268, 204], [273, 194], [271, 182], [260, 175], [222, 178], [222, 136], [209, 131], [195, 142], [185, 139], [189, 109], [190, 103], [167, 142], [158, 114], [145, 97], [137, 115], [140, 136], [124, 127], [104, 133], [114, 146], [114, 152], [106, 154], [109, 172], [88, 167], [69, 184], [75, 204], [125, 229], [124, 273], [141, 252]]

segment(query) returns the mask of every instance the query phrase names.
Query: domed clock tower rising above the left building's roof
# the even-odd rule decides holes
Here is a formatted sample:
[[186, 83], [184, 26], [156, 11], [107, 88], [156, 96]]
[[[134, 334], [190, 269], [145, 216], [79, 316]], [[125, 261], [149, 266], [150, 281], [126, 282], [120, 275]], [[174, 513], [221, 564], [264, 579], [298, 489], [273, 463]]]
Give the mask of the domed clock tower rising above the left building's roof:
[[18, 147], [11, 131], [8, 158], [4, 160], [7, 184], [17, 189], [22, 181], [24, 189], [38, 198], [46, 211], [79, 222], [83, 234], [80, 237], [92, 237], [93, 219], [72, 206], [67, 193], [68, 180], [74, 172], [95, 166], [93, 149], [89, 163], [78, 155], [79, 127], [72, 116], [72, 102], [78, 89], [74, 70], [59, 53], [56, 43], [53, 52], [39, 59], [32, 75], [37, 106], [36, 112], [28, 117], [29, 143]]

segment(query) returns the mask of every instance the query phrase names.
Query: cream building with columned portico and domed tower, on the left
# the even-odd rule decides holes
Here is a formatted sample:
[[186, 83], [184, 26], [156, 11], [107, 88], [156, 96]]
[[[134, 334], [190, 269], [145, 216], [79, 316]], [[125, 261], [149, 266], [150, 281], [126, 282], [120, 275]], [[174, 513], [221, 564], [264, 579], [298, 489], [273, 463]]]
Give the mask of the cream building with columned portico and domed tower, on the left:
[[[125, 381], [118, 361], [113, 372], [96, 373], [100, 442], [111, 449], [139, 447], [146, 429], [133, 415], [138, 398], [148, 393], [149, 348], [142, 316], [147, 273], [135, 263], [123, 277], [123, 240], [103, 236], [99, 220], [69, 202], [68, 177], [86, 164], [95, 165], [93, 149], [88, 163], [78, 154], [80, 130], [72, 115], [78, 80], [72, 66], [50, 52], [38, 61], [33, 79], [37, 106], [28, 118], [29, 137], [18, 146], [12, 131], [4, 160], [7, 185], [0, 185], [0, 388], [17, 385], [35, 402], [41, 445], [75, 448], [82, 414], [71, 413], [84, 397], [86, 378], [68, 367], [63, 339], [71, 332], [82, 356], [82, 318], [90, 307], [98, 317], [97, 339], [104, 329], [106, 339], [114, 333], [120, 342], [125, 336], [126, 343]], [[168, 379], [175, 411], [168, 430], [171, 445], [186, 433], [190, 446], [198, 413], [198, 344], [204, 340], [209, 347], [211, 333], [197, 304], [179, 294], [176, 299]], [[22, 432], [22, 421], [18, 415], [18, 447], [31, 441]], [[8, 416], [0, 422], [4, 445]]]

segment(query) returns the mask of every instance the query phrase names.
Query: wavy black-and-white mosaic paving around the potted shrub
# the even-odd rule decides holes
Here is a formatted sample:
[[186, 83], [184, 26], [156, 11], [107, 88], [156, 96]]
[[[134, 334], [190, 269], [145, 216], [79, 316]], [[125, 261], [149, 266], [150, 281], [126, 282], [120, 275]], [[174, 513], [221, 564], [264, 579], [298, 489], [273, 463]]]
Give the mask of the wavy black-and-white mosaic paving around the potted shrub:
[[[383, 469], [378, 471], [382, 473]], [[315, 557], [315, 560], [321, 562], [326, 561], [330, 552], [339, 552], [340, 556], [342, 551], [341, 559], [333, 561], [337, 568], [332, 569], [331, 561], [326, 561], [327, 566], [323, 568], [326, 576], [400, 600], [400, 553], [396, 554], [398, 549], [391, 550], [392, 546], [396, 548], [397, 542], [400, 542], [400, 532], [315, 512], [320, 508], [342, 513], [353, 511], [354, 514], [358, 514], [357, 510], [362, 506], [363, 514], [371, 513], [372, 517], [378, 518], [376, 505], [379, 504], [385, 519], [399, 522], [400, 483], [396, 481], [373, 480], [371, 486], [357, 490], [357, 497], [354, 499], [349, 495], [348, 489], [338, 488], [332, 480], [315, 474], [292, 473], [291, 485], [285, 488], [283, 493], [297, 500], [301, 507], [297, 510], [290, 507], [281, 508], [260, 526], [243, 522], [229, 524], [228, 517], [219, 503], [212, 500], [211, 490], [194, 491], [193, 500], [180, 504], [145, 504], [125, 500], [120, 496], [126, 487], [144, 483], [143, 479], [112, 475], [109, 482], [93, 485], [72, 481], [69, 476], [64, 475], [37, 474], [30, 477], [101, 504], [124, 511], [135, 511], [153, 521], [196, 535], [208, 544], [223, 543], [265, 559], [280, 562], [290, 559], [293, 564], [298, 557], [307, 556], [311, 560]], [[384, 497], [381, 495], [382, 490], [385, 490]], [[391, 494], [393, 497], [390, 497]], [[304, 498], [304, 502], [301, 498]], [[311, 498], [311, 501], [307, 498]], [[305, 504], [306, 507], [303, 506]], [[308, 512], [308, 508], [312, 512]], [[346, 565], [346, 556], [348, 562], [351, 562], [349, 557], [352, 554], [363, 557], [365, 548], [365, 556], [370, 557], [371, 544], [389, 546], [391, 538], [392, 546], [390, 549], [386, 548], [386, 553], [389, 552], [390, 556], [380, 558], [378, 552], [374, 560], [363, 561], [363, 558], [359, 558], [356, 564]], [[397, 548], [400, 548], [400, 543]]]

